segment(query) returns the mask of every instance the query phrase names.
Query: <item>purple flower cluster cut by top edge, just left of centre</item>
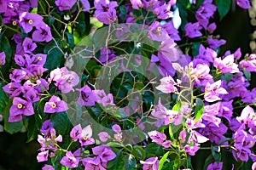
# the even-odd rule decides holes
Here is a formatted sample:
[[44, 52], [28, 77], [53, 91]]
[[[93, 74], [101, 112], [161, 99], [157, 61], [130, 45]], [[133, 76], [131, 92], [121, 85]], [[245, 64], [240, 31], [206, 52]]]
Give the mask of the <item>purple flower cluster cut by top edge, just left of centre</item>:
[[104, 24], [113, 24], [117, 20], [115, 7], [118, 6], [116, 1], [109, 2], [108, 0], [95, 0], [96, 18]]

